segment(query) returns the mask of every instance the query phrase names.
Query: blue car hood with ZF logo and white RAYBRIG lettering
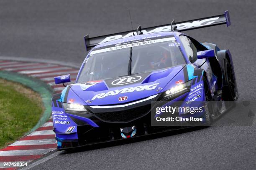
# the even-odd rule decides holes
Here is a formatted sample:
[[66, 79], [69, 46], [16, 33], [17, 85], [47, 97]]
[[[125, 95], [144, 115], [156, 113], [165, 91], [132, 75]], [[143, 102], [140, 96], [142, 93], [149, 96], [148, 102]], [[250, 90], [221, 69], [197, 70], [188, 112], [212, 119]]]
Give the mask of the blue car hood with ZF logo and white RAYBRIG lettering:
[[[161, 93], [185, 65], [106, 80], [69, 85], [87, 105], [115, 105]], [[182, 75], [183, 72], [181, 73]], [[177, 76], [176, 76], [177, 77]], [[180, 76], [178, 76], [178, 79]], [[184, 76], [183, 76], [184, 77]], [[177, 81], [179, 81], [177, 79]], [[183, 78], [184, 79], [184, 78]], [[173, 82], [173, 81], [172, 81]], [[72, 95], [74, 97], [74, 95]], [[69, 95], [67, 100], [73, 100]]]

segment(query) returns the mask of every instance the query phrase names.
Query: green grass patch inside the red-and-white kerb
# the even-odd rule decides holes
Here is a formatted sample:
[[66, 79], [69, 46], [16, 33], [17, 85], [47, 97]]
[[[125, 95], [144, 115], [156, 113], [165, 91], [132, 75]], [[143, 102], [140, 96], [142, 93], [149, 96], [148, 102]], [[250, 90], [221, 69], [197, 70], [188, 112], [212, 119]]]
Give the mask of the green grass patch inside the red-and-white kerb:
[[43, 111], [38, 93], [18, 83], [0, 79], [0, 148], [31, 130]]

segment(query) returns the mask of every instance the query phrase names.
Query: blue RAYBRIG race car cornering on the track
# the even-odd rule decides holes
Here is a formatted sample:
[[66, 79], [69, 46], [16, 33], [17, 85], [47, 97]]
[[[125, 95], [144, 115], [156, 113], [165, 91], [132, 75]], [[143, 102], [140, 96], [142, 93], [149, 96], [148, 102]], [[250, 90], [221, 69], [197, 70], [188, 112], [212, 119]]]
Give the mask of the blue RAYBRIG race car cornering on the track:
[[[92, 49], [76, 82], [52, 97], [57, 148], [173, 130], [151, 125], [152, 101], [166, 101], [165, 105], [182, 101], [189, 105], [237, 100], [230, 51], [200, 43], [181, 32], [220, 24], [230, 25], [228, 11], [180, 23], [173, 20], [170, 25], [144, 30], [139, 26], [131, 32], [92, 38], [86, 35], [86, 48]], [[55, 82], [70, 82], [70, 76], [55, 77]], [[194, 116], [209, 125], [219, 115], [205, 109]]]

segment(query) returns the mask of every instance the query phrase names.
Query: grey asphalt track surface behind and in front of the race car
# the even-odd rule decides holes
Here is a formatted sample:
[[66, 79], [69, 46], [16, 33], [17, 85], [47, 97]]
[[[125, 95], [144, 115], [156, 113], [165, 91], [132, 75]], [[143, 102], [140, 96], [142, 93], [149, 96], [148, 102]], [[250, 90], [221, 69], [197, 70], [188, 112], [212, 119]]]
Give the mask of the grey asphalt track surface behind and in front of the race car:
[[[255, 100], [255, 0], [2, 0], [0, 55], [81, 63], [91, 37], [222, 14], [231, 26], [187, 31], [230, 49], [239, 100]], [[255, 126], [209, 127], [76, 153], [61, 153], [32, 169], [254, 169]]]

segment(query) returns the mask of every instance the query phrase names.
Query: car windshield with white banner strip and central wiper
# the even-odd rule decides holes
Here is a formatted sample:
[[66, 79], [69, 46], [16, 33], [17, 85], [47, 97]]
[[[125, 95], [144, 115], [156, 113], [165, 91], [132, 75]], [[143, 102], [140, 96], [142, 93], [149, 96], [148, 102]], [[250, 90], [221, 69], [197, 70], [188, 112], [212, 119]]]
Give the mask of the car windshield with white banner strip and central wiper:
[[131, 74], [149, 72], [186, 63], [179, 49], [179, 44], [174, 37], [172, 39], [162, 38], [141, 43], [130, 43], [126, 46], [118, 44], [110, 48], [92, 50], [84, 60], [84, 67], [77, 82], [128, 75], [131, 51]]

